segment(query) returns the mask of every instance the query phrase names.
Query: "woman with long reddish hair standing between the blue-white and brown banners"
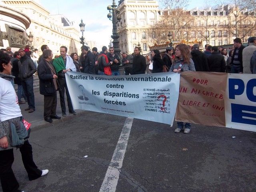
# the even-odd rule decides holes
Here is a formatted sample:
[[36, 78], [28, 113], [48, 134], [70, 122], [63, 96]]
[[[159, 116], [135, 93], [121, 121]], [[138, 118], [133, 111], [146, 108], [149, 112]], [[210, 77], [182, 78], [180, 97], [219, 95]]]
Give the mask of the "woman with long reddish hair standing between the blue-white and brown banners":
[[[178, 44], [175, 50], [174, 62], [170, 68], [170, 71], [175, 73], [180, 73], [182, 71], [196, 71], [194, 62], [191, 59], [190, 50], [185, 44]], [[174, 132], [179, 133], [183, 130], [184, 122], [177, 121], [177, 126]], [[189, 133], [191, 128], [191, 123], [185, 122], [184, 133]]]

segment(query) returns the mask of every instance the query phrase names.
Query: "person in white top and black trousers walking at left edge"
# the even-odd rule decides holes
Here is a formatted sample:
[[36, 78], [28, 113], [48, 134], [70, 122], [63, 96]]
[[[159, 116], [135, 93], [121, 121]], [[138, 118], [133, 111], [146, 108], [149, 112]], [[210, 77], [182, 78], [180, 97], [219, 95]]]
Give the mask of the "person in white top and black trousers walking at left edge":
[[[3, 192], [21, 192], [19, 184], [12, 171], [14, 162], [10, 124], [20, 122], [22, 114], [18, 99], [11, 80], [11, 58], [6, 53], [0, 52], [0, 180]], [[32, 146], [28, 140], [20, 147], [22, 162], [28, 173], [29, 180], [35, 180], [48, 173], [48, 170], [39, 170], [34, 163]]]

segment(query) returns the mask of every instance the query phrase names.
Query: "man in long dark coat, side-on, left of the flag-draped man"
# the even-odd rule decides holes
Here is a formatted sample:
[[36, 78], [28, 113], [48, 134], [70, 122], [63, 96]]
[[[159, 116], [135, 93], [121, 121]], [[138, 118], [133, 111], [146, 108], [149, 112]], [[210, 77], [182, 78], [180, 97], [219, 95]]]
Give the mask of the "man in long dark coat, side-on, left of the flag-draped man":
[[40, 94], [44, 95], [44, 120], [49, 123], [52, 123], [52, 119], [60, 119], [56, 115], [58, 76], [51, 64], [52, 56], [51, 50], [44, 50], [43, 59], [37, 67]]

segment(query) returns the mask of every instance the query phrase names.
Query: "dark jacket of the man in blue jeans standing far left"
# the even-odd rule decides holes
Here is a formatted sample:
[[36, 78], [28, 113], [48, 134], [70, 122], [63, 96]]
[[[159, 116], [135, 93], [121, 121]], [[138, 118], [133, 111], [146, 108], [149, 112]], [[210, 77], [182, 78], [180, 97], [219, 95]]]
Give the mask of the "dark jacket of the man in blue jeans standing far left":
[[34, 64], [34, 61], [26, 55], [20, 58], [18, 62], [18, 66], [19, 66], [18, 76], [21, 80], [26, 80], [32, 77], [33, 74], [36, 72], [36, 66]]

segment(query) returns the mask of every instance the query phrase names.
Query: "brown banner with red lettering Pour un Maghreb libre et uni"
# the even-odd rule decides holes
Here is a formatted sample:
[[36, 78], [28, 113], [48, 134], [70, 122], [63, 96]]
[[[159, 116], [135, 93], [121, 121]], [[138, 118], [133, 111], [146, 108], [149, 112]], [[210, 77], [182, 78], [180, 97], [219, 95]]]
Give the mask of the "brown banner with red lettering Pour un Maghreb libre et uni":
[[217, 72], [182, 72], [176, 121], [225, 127], [227, 76]]

